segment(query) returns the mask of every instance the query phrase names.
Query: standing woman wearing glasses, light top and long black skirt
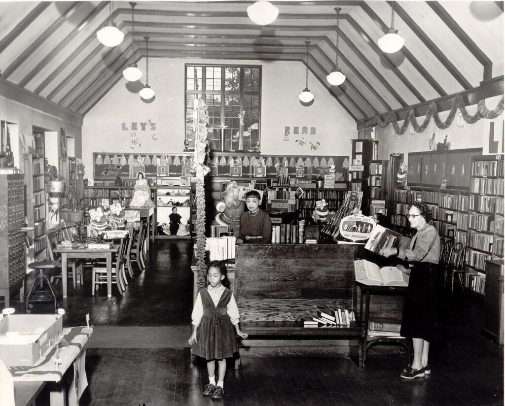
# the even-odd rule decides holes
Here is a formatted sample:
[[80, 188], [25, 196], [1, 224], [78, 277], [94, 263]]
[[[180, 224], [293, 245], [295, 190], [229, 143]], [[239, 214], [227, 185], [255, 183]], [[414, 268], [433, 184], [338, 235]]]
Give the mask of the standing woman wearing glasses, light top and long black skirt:
[[405, 379], [423, 377], [431, 373], [428, 365], [430, 342], [442, 338], [442, 272], [438, 267], [440, 237], [428, 224], [431, 210], [421, 202], [409, 206], [407, 219], [417, 233], [407, 248], [387, 248], [386, 257], [396, 255], [408, 262], [408, 268], [398, 265], [402, 272], [410, 274], [407, 297], [403, 306], [400, 334], [412, 337], [414, 360], [400, 375]]

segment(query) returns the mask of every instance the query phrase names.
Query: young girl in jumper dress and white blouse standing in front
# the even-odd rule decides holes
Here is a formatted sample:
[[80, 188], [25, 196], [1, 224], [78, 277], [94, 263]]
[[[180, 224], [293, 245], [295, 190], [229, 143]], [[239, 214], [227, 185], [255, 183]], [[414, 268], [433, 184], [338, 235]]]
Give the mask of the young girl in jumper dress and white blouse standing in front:
[[[247, 334], [238, 326], [238, 308], [230, 289], [225, 287], [229, 282], [223, 262], [212, 261], [209, 264], [207, 281], [209, 285], [200, 289], [193, 307], [193, 332], [189, 344], [195, 344], [193, 354], [207, 360], [209, 383], [202, 393], [219, 399], [224, 393], [226, 358], [233, 357], [233, 353], [238, 351], [235, 333], [242, 338], [247, 338]], [[216, 360], [219, 365], [217, 384], [214, 376]]]

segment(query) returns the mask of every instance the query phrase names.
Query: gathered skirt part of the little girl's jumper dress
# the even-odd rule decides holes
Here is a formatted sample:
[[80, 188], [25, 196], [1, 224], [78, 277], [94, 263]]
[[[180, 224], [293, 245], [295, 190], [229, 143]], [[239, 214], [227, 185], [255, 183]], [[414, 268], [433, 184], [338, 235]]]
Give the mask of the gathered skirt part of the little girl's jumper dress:
[[196, 330], [193, 354], [206, 360], [221, 360], [233, 357], [237, 351], [237, 335], [230, 317], [215, 313], [204, 315]]

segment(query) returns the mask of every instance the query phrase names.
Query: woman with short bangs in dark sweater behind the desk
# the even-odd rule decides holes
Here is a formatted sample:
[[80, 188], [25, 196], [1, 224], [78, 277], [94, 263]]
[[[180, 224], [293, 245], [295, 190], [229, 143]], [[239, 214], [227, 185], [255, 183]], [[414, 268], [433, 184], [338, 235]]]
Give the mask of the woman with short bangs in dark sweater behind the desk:
[[260, 209], [260, 194], [256, 190], [251, 190], [244, 197], [245, 205], [249, 211], [240, 216], [237, 244], [270, 244], [272, 222], [268, 213]]

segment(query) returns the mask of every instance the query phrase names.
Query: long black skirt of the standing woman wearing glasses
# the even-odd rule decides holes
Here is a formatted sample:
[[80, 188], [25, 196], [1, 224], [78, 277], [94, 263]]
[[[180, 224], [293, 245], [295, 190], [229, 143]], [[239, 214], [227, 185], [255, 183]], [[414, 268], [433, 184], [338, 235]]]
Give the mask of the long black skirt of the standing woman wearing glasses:
[[428, 342], [443, 339], [443, 270], [430, 262], [412, 268], [400, 334]]

